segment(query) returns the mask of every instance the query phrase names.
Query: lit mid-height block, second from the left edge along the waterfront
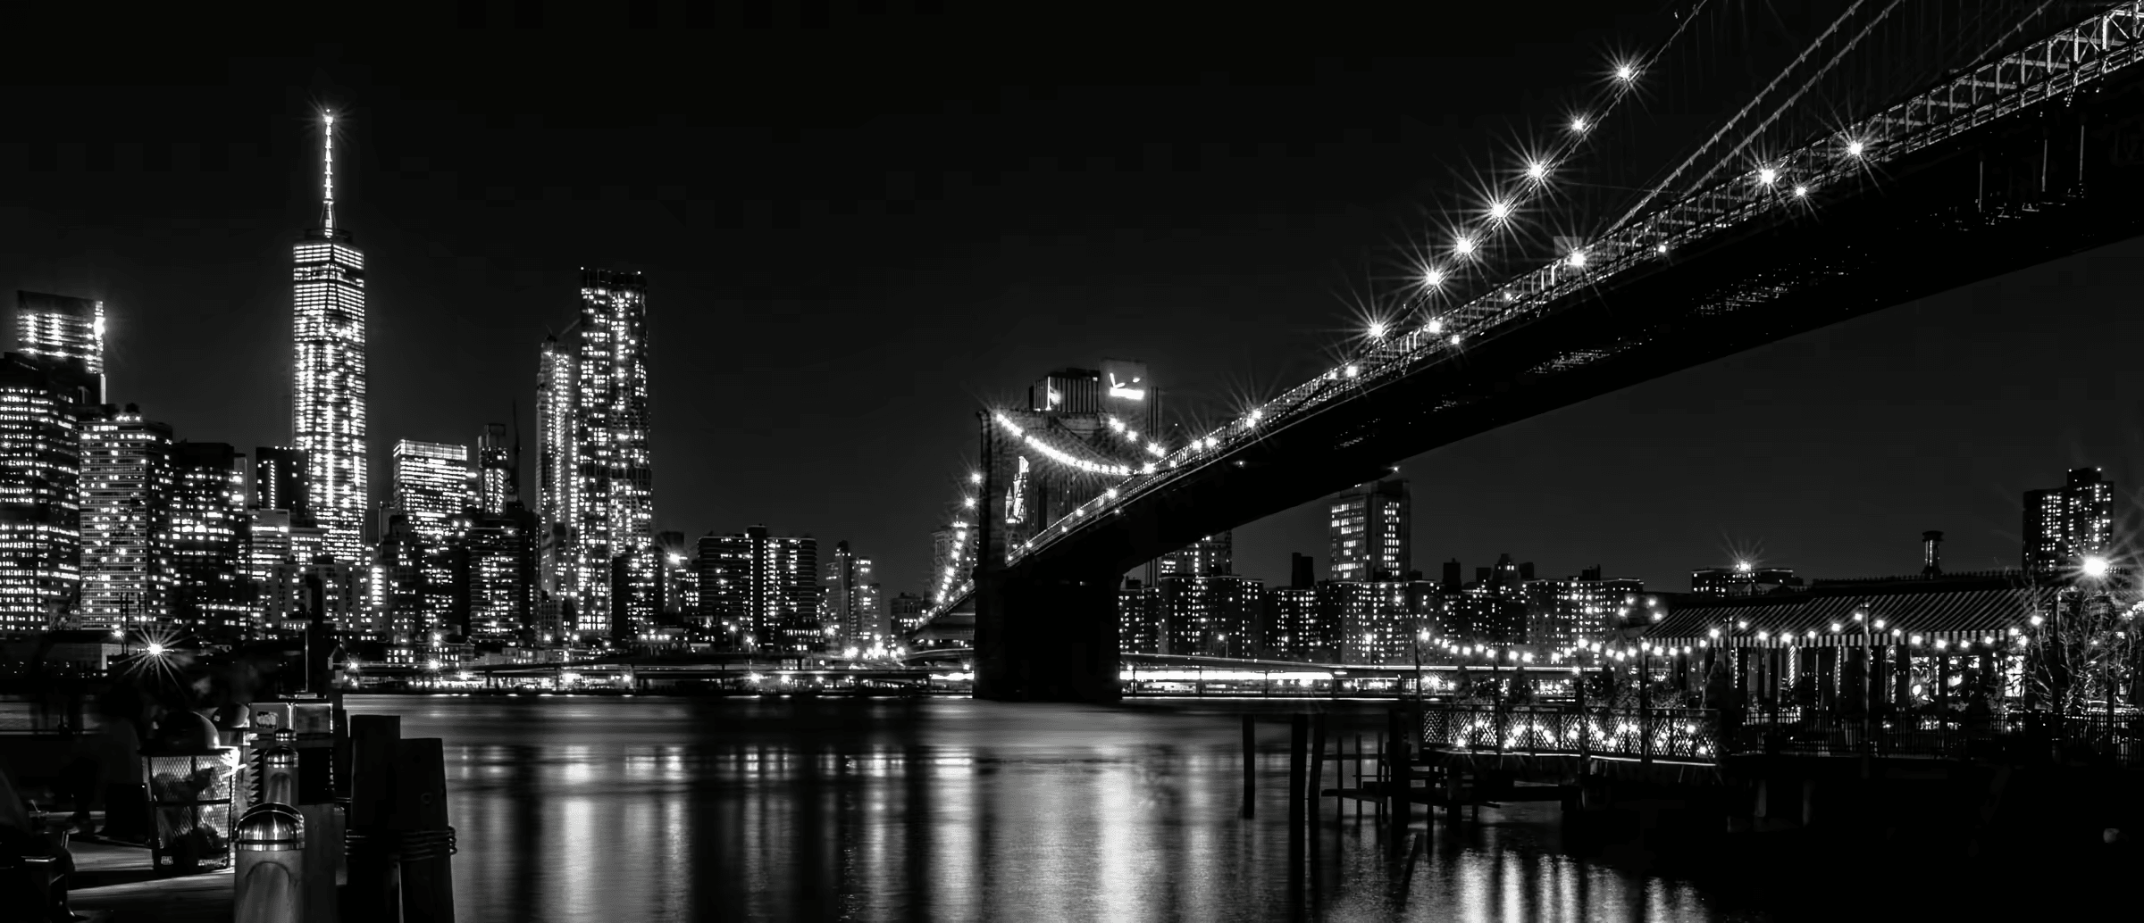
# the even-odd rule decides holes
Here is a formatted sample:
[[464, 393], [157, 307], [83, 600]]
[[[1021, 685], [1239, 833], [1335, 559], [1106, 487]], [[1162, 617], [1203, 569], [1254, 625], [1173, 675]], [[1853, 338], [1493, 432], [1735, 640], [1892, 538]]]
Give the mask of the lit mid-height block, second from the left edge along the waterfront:
[[81, 621], [161, 623], [172, 606], [172, 426], [142, 409], [81, 422]]

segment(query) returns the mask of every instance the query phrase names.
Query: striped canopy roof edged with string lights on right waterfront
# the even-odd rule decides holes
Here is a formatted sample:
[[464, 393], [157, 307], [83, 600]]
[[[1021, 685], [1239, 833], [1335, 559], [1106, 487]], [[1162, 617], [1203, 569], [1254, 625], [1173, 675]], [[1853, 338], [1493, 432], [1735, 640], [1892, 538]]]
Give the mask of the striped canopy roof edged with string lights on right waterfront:
[[[2129, 606], [2138, 593], [2116, 593]], [[1861, 612], [1863, 621], [1855, 615]], [[2005, 647], [2033, 625], [2033, 591], [2009, 582], [1825, 589], [1681, 606], [1647, 625], [1644, 638], [1689, 647]], [[1882, 627], [1876, 627], [1876, 625]], [[1717, 632], [1717, 634], [1715, 634]], [[1874, 638], [1872, 638], [1874, 636]]]

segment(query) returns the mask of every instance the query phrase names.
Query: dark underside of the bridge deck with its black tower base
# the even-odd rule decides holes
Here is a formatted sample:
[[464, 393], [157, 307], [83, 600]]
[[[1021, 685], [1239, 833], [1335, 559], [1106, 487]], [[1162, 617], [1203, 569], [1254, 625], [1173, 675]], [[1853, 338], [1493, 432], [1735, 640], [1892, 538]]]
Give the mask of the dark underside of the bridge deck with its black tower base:
[[[1484, 430], [1743, 349], [2144, 233], [2144, 92], [2114, 84], [2002, 116], [1334, 400], [1190, 478], [1128, 497], [1014, 565], [978, 570], [984, 698], [1115, 698], [1117, 578], [1201, 535], [1374, 480]], [[986, 454], [1008, 448], [984, 441]], [[993, 499], [997, 499], [993, 495]], [[1106, 623], [1106, 630], [1104, 630]]]

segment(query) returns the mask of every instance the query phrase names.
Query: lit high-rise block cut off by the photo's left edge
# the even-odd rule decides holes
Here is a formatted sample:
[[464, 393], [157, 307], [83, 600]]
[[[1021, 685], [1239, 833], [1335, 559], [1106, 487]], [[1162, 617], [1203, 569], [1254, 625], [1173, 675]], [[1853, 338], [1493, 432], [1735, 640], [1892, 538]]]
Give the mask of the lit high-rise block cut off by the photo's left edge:
[[81, 388], [0, 358], [0, 632], [71, 619], [81, 589]]

